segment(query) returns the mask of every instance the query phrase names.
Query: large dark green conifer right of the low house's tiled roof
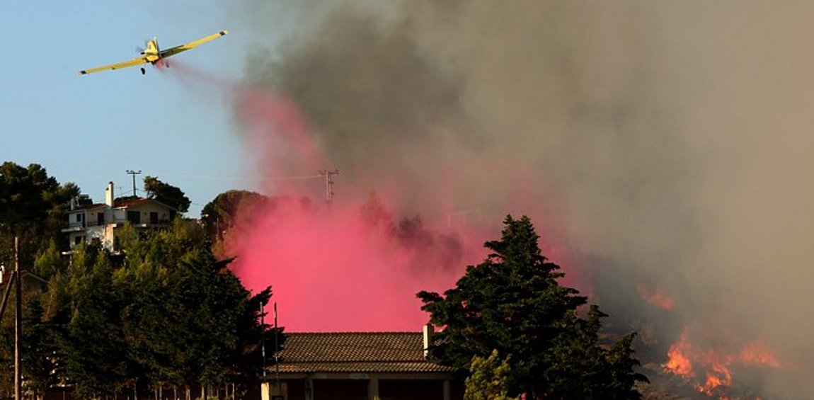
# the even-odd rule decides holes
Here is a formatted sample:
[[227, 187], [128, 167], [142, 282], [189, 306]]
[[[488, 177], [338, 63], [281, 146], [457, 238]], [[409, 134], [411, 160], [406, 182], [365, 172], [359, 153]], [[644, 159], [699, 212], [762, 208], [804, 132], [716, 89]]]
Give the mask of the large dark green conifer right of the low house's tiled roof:
[[[435, 336], [432, 356], [466, 370], [474, 356], [485, 358], [497, 349], [510, 360], [510, 396], [638, 398], [632, 384], [645, 378], [632, 371], [637, 365], [630, 349], [632, 336], [612, 345], [610, 353], [608, 345], [597, 339], [603, 314], [591, 307], [587, 320], [578, 316], [586, 298], [558, 284], [564, 274], [541, 254], [531, 220], [509, 216], [504, 224], [501, 240], [484, 244], [492, 253], [481, 264], [467, 266], [455, 288], [443, 296], [418, 293], [431, 323], [445, 327]], [[567, 373], [584, 363], [618, 370], [601, 376]], [[598, 373], [598, 369], [590, 371]], [[608, 392], [593, 397], [593, 392], [575, 395], [561, 389], [580, 385], [627, 391], [618, 397], [607, 397]]]

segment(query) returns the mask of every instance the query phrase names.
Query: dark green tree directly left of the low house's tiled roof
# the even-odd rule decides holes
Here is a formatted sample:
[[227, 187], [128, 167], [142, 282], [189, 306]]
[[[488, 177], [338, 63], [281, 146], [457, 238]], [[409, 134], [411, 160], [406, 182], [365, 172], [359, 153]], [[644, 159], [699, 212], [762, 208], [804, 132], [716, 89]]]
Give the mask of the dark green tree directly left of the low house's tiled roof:
[[129, 352], [154, 388], [256, 380], [263, 329], [260, 303], [208, 248], [204, 228], [177, 219], [168, 230], [125, 235], [117, 290]]

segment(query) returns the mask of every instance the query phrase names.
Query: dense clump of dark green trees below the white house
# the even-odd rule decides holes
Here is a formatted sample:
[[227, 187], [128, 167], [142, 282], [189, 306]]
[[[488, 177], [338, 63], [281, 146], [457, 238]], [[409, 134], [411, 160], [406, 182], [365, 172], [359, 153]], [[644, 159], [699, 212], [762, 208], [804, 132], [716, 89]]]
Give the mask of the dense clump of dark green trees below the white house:
[[126, 226], [124, 257], [83, 243], [60, 266], [46, 249], [36, 265], [48, 289], [26, 301], [29, 387], [67, 383], [98, 398], [256, 381], [260, 338], [274, 334], [260, 325], [271, 289], [248, 292], [206, 238], [177, 218], [147, 233]]

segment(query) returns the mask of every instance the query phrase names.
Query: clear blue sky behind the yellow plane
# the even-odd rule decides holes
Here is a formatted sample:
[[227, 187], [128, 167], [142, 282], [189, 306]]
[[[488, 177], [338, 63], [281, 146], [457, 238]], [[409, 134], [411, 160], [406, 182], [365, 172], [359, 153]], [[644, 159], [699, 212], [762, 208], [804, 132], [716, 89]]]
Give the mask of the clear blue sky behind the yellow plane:
[[59, 182], [103, 200], [107, 182], [129, 194], [126, 169], [140, 169], [186, 191], [198, 217], [229, 189], [256, 189], [251, 162], [217, 93], [190, 90], [148, 68], [78, 76], [80, 69], [229, 29], [230, 35], [173, 59], [239, 81], [257, 37], [221, 2], [46, 2], [11, 0], [0, 13], [0, 161], [37, 163]]

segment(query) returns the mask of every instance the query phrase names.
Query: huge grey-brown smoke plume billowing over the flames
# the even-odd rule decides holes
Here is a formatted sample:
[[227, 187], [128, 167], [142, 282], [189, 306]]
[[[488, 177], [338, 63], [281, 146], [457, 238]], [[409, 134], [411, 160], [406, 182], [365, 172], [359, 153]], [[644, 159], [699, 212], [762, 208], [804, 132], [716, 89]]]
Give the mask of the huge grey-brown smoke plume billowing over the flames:
[[242, 3], [284, 35], [247, 81], [300, 104], [358, 197], [531, 214], [606, 264], [611, 319], [644, 279], [659, 318], [764, 341], [764, 390], [814, 398], [814, 5], [304, 3]]

